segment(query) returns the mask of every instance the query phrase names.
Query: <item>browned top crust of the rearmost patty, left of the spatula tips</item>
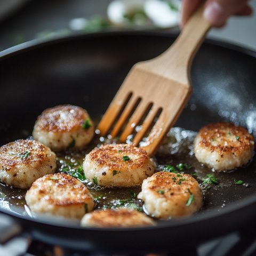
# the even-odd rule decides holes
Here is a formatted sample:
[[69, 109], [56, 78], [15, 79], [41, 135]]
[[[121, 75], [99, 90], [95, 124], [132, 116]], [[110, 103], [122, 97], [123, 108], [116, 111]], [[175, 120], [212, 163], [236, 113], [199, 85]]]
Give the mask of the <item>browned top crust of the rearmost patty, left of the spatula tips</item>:
[[[67, 119], [63, 120], [61, 114], [65, 114]], [[37, 117], [36, 129], [49, 132], [76, 131], [87, 118], [87, 111], [81, 107], [59, 105], [45, 109]]]

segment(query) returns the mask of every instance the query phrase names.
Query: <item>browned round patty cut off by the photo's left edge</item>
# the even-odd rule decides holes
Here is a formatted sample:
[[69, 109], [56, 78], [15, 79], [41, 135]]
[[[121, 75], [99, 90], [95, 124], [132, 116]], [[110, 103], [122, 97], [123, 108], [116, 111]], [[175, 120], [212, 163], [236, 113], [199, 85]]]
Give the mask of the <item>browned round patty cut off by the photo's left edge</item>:
[[9, 186], [29, 188], [56, 168], [56, 155], [35, 140], [16, 140], [0, 148], [0, 180]]

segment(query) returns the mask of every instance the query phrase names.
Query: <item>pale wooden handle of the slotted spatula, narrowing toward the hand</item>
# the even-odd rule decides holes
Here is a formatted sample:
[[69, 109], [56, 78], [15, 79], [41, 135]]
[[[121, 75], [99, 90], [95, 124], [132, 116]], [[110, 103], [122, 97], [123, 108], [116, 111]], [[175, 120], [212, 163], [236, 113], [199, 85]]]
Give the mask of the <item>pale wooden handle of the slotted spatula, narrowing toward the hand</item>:
[[[171, 47], [155, 59], [148, 61], [146, 68], [155, 70], [162, 76], [174, 78], [181, 84], [191, 86], [190, 77], [187, 76], [190, 74], [191, 61], [211, 27], [210, 22], [203, 18], [203, 9], [204, 3], [191, 16]], [[137, 65], [139, 66], [140, 63]]]

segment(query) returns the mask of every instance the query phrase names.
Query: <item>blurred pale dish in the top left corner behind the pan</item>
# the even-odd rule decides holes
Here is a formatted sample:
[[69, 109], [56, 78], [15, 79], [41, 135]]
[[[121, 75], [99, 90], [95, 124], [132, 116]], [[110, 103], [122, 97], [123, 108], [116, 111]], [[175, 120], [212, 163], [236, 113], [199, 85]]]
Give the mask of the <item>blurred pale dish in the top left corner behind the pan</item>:
[[19, 10], [29, 0], [0, 0], [0, 21]]

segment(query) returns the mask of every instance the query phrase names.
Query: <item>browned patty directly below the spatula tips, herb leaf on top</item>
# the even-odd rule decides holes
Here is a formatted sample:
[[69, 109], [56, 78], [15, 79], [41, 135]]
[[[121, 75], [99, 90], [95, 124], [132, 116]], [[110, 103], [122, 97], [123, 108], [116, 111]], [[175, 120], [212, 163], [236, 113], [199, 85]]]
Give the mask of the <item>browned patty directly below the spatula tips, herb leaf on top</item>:
[[132, 187], [155, 171], [147, 152], [127, 144], [101, 145], [86, 155], [83, 170], [88, 180], [104, 187]]

